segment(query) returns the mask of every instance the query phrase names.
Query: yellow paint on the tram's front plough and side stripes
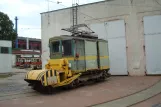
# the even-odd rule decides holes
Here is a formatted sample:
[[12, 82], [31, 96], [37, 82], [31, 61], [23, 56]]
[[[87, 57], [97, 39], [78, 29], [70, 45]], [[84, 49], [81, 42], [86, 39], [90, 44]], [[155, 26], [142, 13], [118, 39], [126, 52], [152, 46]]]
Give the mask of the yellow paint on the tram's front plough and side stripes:
[[[108, 56], [101, 56], [101, 59], [107, 59]], [[86, 56], [86, 60], [96, 60], [97, 56]], [[52, 77], [50, 74], [50, 70], [52, 70], [53, 76], [56, 76], [57, 78], [57, 83], [52, 84], [53, 87], [57, 86], [63, 86], [70, 84], [72, 81], [74, 81], [76, 78], [78, 78], [81, 74], [74, 74], [74, 72], [84, 72], [85, 69], [83, 70], [75, 70], [74, 72], [69, 69], [69, 60], [75, 60], [74, 57], [68, 57], [64, 59], [51, 59], [48, 61], [48, 64], [46, 64], [44, 70], [32, 70], [27, 72], [25, 79], [28, 80], [36, 80], [36, 81], [41, 81], [42, 85], [48, 86], [51, 84], [48, 84], [47, 82], [47, 75], [48, 77]], [[77, 60], [84, 60], [84, 56], [80, 56]], [[102, 66], [101, 69], [108, 69], [109, 66]], [[92, 68], [92, 69], [87, 69], [87, 70], [96, 70], [98, 68]], [[54, 70], [56, 70], [56, 75]], [[65, 76], [63, 77], [63, 81], [60, 81], [60, 74], [59, 73], [64, 73]], [[42, 77], [44, 76], [44, 81], [42, 81]]]

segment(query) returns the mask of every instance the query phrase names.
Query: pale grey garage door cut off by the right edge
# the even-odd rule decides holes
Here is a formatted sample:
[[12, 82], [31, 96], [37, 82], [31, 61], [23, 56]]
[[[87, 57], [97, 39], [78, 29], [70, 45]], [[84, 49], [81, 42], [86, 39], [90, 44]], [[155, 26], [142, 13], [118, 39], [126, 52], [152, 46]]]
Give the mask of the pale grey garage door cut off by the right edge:
[[147, 74], [161, 74], [161, 16], [144, 17]]

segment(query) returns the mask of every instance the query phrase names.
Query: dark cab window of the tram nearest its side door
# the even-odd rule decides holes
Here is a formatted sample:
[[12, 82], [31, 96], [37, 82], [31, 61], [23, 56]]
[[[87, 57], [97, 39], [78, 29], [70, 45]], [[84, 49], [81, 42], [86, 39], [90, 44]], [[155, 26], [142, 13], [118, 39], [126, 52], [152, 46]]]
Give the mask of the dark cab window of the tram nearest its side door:
[[71, 40], [64, 40], [62, 41], [62, 46], [63, 46], [63, 50], [62, 50], [62, 54], [63, 56], [70, 56], [72, 55], [72, 43]]

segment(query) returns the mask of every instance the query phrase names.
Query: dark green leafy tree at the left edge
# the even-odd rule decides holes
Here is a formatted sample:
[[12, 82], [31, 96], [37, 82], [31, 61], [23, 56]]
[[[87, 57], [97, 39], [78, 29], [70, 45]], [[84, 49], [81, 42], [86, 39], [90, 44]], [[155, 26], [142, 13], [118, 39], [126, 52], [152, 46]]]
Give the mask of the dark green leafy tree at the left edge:
[[0, 40], [14, 41], [16, 39], [17, 33], [13, 26], [13, 22], [8, 15], [0, 12]]

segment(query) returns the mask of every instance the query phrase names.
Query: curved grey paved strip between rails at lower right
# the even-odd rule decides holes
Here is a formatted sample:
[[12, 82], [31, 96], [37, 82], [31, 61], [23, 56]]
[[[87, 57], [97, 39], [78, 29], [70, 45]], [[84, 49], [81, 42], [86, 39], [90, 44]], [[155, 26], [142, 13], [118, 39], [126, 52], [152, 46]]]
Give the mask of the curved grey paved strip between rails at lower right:
[[154, 86], [146, 90], [143, 90], [141, 92], [138, 92], [136, 94], [133, 94], [133, 95], [130, 95], [130, 96], [118, 99], [118, 100], [114, 100], [111, 102], [106, 102], [103, 104], [95, 105], [93, 107], [129, 107], [141, 101], [145, 101], [146, 99], [149, 99], [160, 93], [161, 93], [161, 81], [159, 81]]

